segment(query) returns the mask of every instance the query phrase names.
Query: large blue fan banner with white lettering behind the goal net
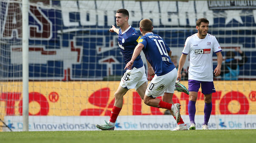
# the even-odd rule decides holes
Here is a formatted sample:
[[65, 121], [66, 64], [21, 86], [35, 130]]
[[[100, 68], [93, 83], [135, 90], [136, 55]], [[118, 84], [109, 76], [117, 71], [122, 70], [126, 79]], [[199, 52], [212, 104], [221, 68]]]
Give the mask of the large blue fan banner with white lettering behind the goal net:
[[[12, 1], [2, 3], [0, 38], [15, 41], [5, 45], [9, 53], [3, 57], [6, 68], [11, 68], [22, 64], [22, 32], [19, 27], [22, 25], [22, 8]], [[147, 5], [146, 8], [143, 5]], [[172, 54], [179, 57], [186, 37], [197, 32], [196, 19], [207, 17], [209, 34], [217, 37], [223, 55], [239, 47], [248, 56], [250, 63], [240, 68], [239, 77], [256, 78], [256, 66], [251, 66], [256, 58], [250, 56], [256, 55], [255, 0], [33, 0], [29, 8], [28, 61], [31, 80], [87, 81], [122, 76], [124, 59], [119, 54], [117, 35], [108, 32], [115, 24], [118, 8], [128, 9], [129, 23], [138, 32], [141, 19], [152, 19], [154, 32], [163, 35]], [[237, 30], [240, 32], [232, 32]], [[213, 56], [216, 66], [217, 56]], [[188, 61], [184, 65], [184, 68], [187, 67]], [[17, 74], [5, 71], [3, 74], [6, 77], [3, 78], [21, 79], [20, 68], [13, 70]]]

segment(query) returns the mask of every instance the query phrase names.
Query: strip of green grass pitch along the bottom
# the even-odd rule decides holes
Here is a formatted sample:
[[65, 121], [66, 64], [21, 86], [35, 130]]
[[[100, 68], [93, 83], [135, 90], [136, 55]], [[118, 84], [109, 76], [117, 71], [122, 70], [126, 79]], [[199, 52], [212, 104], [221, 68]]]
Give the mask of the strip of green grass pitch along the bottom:
[[256, 130], [0, 132], [0, 143], [256, 143]]

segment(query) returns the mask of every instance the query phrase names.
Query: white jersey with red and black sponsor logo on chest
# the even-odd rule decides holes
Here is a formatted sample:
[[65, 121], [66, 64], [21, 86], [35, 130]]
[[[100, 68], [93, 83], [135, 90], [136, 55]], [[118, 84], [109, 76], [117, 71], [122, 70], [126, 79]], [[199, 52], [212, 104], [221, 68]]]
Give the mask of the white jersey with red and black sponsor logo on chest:
[[197, 33], [186, 39], [183, 54], [189, 54], [188, 79], [197, 81], [213, 81], [213, 52], [222, 51], [215, 36], [207, 33], [200, 39]]

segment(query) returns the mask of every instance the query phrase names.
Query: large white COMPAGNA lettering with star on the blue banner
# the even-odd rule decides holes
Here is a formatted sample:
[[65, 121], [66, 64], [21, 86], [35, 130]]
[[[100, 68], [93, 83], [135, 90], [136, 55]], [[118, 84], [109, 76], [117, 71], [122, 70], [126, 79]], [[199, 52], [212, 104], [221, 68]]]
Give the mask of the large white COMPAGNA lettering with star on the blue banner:
[[[197, 19], [207, 17], [209, 25], [214, 24], [214, 12], [209, 9], [208, 1], [104, 1], [97, 0], [85, 1], [79, 0], [78, 3], [73, 0], [60, 1], [62, 7], [62, 18], [65, 27], [71, 26], [105, 26], [105, 16], [107, 17], [107, 26], [115, 24], [115, 12], [119, 8], [126, 8], [129, 11], [129, 22], [140, 22], [141, 19], [152, 19], [155, 26], [160, 24], [166, 26], [194, 26]], [[210, 3], [210, 5], [214, 5]], [[200, 10], [200, 11], [199, 11]], [[233, 11], [236, 14], [233, 14]], [[77, 12], [80, 19], [72, 18], [70, 13]], [[225, 17], [225, 23], [233, 19], [243, 24], [241, 11], [225, 10], [220, 17]], [[256, 22], [256, 10], [253, 10], [254, 22]], [[188, 21], [187, 21], [188, 19]]]

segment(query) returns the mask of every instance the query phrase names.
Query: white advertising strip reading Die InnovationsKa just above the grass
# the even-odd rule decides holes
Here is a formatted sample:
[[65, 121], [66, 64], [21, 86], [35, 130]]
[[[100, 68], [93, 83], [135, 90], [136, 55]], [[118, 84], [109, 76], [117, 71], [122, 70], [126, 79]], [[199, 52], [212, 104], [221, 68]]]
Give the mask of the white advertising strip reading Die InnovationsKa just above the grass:
[[[183, 121], [189, 127], [189, 116]], [[76, 131], [98, 130], [95, 125], [104, 122], [109, 116], [29, 116], [29, 131]], [[196, 129], [202, 130], [203, 115], [196, 115]], [[256, 129], [256, 115], [211, 115], [210, 130]], [[22, 116], [6, 116], [6, 123], [12, 131], [22, 131]], [[115, 130], [172, 130], [177, 126], [171, 115], [118, 116]], [[3, 131], [10, 131], [3, 128]]]

